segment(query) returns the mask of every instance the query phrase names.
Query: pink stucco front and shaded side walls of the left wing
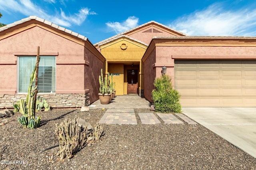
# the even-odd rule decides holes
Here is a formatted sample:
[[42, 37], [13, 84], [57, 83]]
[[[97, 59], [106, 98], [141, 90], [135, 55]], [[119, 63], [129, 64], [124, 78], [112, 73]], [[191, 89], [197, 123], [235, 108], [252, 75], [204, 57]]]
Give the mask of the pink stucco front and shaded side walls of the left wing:
[[[39, 23], [43, 26], [17, 31], [16, 34], [0, 40], [0, 94], [17, 93], [17, 56], [36, 55], [39, 46], [41, 56], [56, 56], [56, 94], [90, 92], [90, 102], [97, 100], [97, 78], [104, 62], [100, 52], [90, 42], [72, 37], [69, 33], [38, 21], [28, 21], [24, 26], [30, 23]], [[20, 27], [22, 24], [18, 25], [17, 29]], [[9, 33], [8, 31], [16, 30], [11, 28], [4, 32]], [[1, 34], [4, 35], [3, 32], [0, 36]]]

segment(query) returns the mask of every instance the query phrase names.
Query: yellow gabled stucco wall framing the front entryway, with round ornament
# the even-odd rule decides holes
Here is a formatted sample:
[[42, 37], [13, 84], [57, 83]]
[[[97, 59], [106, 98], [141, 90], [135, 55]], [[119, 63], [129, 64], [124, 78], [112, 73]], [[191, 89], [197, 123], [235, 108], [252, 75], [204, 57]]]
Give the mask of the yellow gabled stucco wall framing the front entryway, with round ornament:
[[[108, 72], [120, 74], [113, 76], [113, 81], [116, 82], [116, 95], [127, 94], [127, 66], [134, 63], [138, 69], [138, 88], [143, 89], [143, 70], [141, 59], [146, 51], [147, 46], [121, 37], [104, 45], [100, 45], [101, 53], [106, 58], [105, 74]], [[125, 75], [124, 75], [125, 74]]]

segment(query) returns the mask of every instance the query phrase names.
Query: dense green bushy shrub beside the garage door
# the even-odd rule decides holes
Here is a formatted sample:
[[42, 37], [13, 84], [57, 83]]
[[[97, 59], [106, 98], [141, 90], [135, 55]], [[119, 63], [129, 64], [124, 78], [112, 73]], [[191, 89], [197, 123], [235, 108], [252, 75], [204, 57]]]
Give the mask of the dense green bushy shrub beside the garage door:
[[155, 89], [152, 90], [152, 100], [156, 111], [159, 112], [181, 112], [180, 94], [172, 87], [172, 78], [163, 75], [154, 81]]

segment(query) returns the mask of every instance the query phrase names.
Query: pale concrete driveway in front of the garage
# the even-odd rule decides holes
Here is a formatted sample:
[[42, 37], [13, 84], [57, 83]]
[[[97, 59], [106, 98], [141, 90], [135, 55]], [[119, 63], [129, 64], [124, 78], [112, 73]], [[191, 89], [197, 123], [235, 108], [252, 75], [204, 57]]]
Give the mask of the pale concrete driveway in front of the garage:
[[256, 158], [256, 107], [183, 107], [183, 113]]

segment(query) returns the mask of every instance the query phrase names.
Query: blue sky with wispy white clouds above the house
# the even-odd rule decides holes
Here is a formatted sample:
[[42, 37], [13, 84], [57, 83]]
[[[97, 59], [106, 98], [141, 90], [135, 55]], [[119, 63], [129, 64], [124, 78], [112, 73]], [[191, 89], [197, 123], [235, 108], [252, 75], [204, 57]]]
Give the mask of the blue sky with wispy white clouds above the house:
[[256, 36], [255, 0], [0, 0], [1, 23], [38, 16], [97, 43], [157, 21], [188, 35]]

